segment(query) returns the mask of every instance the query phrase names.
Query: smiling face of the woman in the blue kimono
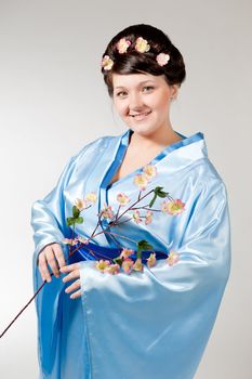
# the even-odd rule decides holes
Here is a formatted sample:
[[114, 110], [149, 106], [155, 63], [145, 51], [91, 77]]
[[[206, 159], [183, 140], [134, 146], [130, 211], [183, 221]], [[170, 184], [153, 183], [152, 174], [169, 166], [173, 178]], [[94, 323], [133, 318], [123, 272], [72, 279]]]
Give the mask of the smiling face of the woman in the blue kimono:
[[170, 127], [171, 96], [177, 84], [169, 86], [164, 76], [112, 74], [112, 102], [125, 125], [141, 135], [150, 135]]

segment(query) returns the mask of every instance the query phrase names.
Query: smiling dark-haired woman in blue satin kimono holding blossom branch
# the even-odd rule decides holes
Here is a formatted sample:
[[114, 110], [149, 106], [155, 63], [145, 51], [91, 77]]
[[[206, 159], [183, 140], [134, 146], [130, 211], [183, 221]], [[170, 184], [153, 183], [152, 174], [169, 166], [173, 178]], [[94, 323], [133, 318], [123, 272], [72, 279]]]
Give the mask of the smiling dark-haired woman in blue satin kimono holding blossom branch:
[[50, 283], [37, 299], [40, 378], [191, 379], [229, 277], [225, 184], [203, 134], [172, 128], [186, 74], [165, 34], [123, 29], [102, 73], [127, 131], [85, 145], [32, 205], [35, 288]]

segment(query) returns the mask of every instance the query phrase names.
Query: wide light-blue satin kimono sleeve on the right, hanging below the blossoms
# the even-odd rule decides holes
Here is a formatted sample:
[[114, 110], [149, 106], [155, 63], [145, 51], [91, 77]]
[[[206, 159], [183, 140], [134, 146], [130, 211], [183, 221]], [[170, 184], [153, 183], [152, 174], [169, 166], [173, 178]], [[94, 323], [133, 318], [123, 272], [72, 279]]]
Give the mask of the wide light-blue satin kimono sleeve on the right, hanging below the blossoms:
[[[131, 363], [124, 367], [128, 377], [151, 379], [159, 373], [160, 378], [194, 378], [230, 271], [225, 185], [214, 179], [199, 192], [190, 217], [177, 219], [172, 237], [180, 260], [173, 265], [164, 259], [145, 265], [143, 273], [111, 275], [93, 262], [82, 263], [82, 302], [96, 379], [116, 379], [115, 373], [123, 371], [121, 356]], [[183, 228], [180, 222], [185, 220]]]

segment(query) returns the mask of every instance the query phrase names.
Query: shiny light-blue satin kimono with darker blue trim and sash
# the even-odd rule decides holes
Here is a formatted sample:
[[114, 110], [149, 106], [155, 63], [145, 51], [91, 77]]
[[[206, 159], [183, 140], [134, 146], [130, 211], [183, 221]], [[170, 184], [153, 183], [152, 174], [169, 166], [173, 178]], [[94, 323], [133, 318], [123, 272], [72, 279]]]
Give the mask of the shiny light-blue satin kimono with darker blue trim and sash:
[[[76, 198], [97, 195], [75, 228], [87, 238], [105, 202], [117, 209], [121, 192], [137, 199], [133, 179], [143, 168], [109, 184], [132, 132], [87, 144], [68, 161], [52, 192], [34, 202], [35, 290], [42, 284], [37, 265], [41, 249], [58, 243], [68, 254], [62, 240], [72, 235], [66, 218]], [[157, 212], [148, 224], [131, 220], [111, 228], [116, 236], [101, 233], [91, 245], [97, 253], [116, 257], [120, 247], [135, 251], [131, 239], [145, 239], [159, 252], [157, 264], [112, 275], [95, 267], [89, 249], [75, 253], [68, 264], [81, 262], [81, 298], [65, 293], [70, 283], [64, 284], [63, 275], [53, 276], [36, 298], [40, 379], [194, 378], [229, 277], [230, 224], [226, 187], [208, 159], [203, 134], [177, 134], [182, 140], [149, 162], [157, 175], [146, 192], [161, 186], [185, 202], [185, 210], [175, 217]], [[106, 226], [102, 223], [100, 231]], [[173, 265], [161, 257], [171, 250], [180, 256]]]

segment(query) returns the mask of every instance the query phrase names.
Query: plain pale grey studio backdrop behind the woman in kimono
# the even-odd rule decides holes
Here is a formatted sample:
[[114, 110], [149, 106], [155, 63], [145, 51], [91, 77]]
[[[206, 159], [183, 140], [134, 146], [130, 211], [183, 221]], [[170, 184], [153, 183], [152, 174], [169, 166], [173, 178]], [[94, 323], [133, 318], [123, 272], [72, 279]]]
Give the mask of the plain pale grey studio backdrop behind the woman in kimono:
[[[105, 47], [129, 25], [151, 24], [186, 63], [173, 128], [204, 133], [229, 196], [231, 274], [196, 379], [252, 378], [251, 4], [0, 1], [1, 331], [32, 295], [31, 204], [84, 144], [125, 130], [100, 73]], [[37, 378], [36, 328], [32, 303], [0, 342], [2, 379]]]

